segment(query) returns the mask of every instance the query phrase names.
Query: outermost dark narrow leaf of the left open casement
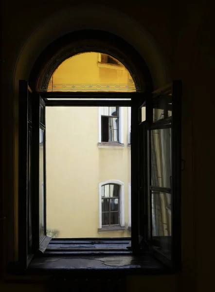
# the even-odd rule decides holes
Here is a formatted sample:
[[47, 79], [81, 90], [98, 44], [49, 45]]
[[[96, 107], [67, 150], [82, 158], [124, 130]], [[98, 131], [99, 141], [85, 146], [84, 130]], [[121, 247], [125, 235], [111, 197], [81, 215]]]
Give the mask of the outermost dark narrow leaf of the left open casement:
[[32, 91], [19, 81], [19, 164], [18, 164], [18, 258], [23, 268], [30, 263], [33, 251], [33, 186], [32, 186]]

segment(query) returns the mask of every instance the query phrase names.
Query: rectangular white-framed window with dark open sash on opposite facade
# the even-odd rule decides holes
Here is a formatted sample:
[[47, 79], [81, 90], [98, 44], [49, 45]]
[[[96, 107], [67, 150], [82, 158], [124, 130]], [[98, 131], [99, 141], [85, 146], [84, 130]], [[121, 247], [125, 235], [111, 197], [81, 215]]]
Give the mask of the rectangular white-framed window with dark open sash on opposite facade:
[[98, 108], [98, 143], [124, 144], [123, 108]]

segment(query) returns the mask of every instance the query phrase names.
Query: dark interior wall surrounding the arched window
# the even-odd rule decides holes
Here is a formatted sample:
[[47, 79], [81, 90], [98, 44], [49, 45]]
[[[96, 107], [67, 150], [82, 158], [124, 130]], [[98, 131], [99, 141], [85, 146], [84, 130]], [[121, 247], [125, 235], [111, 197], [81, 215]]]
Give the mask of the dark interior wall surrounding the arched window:
[[[60, 14], [62, 9], [69, 10], [74, 5], [64, 0], [3, 2], [2, 56], [5, 63], [1, 65], [3, 86], [0, 87], [0, 96], [4, 154], [3, 192], [0, 196], [3, 195], [1, 199], [4, 203], [3, 211], [6, 220], [4, 223], [0, 222], [0, 237], [3, 238], [1, 242], [3, 250], [0, 251], [2, 268], [3, 258], [9, 260], [17, 253], [14, 248], [16, 245], [14, 238], [17, 234], [18, 79], [27, 79], [36, 57], [43, 48], [66, 31], [65, 27], [57, 26], [57, 22], [53, 29], [51, 24], [49, 26], [51, 19], [54, 19], [52, 15]], [[202, 292], [207, 287], [213, 287], [214, 282], [212, 273], [215, 256], [211, 252], [213, 222], [215, 222], [213, 7], [207, 2], [196, 4], [195, 7], [189, 6], [185, 1], [173, 2], [175, 5], [173, 3], [170, 5], [166, 0], [162, 3], [158, 0], [145, 1], [145, 3], [137, 0], [127, 4], [125, 1], [108, 3], [109, 7], [114, 5], [114, 8], [137, 20], [146, 29], [143, 35], [149, 32], [149, 37], [146, 37], [149, 39], [148, 43], [141, 38], [143, 35], [138, 26], [136, 28], [132, 26], [132, 30], [127, 27], [127, 35], [122, 31], [124, 34], [122, 37], [133, 41], [138, 47], [136, 49], [141, 51], [141, 54], [145, 54], [149, 69], [153, 71], [155, 84], [160, 86], [174, 78], [180, 78], [183, 82], [182, 158], [186, 161], [186, 165], [182, 173], [182, 272], [172, 276], [128, 277], [128, 291]], [[80, 0], [80, 3], [88, 3], [88, 1]], [[91, 1], [89, 11], [94, 3], [101, 4], [102, 1]], [[83, 8], [82, 14], [86, 13], [84, 11], [86, 10]], [[98, 20], [101, 17], [104, 27], [109, 25], [110, 30], [117, 30], [120, 23], [122, 25], [124, 21], [119, 17], [119, 22], [116, 21], [110, 27], [112, 21], [110, 20], [109, 24], [108, 21], [105, 23], [102, 16], [102, 13], [97, 12]], [[62, 18], [63, 14], [58, 21], [63, 22]], [[113, 16], [110, 17], [112, 18]], [[130, 22], [126, 23], [129, 26]], [[69, 31], [71, 29], [69, 18], [64, 21], [64, 25], [66, 24]], [[83, 22], [80, 21], [76, 29], [81, 27]], [[132, 38], [131, 35], [135, 37]], [[155, 52], [157, 56], [153, 55]], [[163, 68], [165, 67], [163, 71], [162, 65]], [[44, 286], [2, 283], [0, 288], [1, 291], [15, 291], [20, 288], [24, 292], [29, 289], [42, 291]]]

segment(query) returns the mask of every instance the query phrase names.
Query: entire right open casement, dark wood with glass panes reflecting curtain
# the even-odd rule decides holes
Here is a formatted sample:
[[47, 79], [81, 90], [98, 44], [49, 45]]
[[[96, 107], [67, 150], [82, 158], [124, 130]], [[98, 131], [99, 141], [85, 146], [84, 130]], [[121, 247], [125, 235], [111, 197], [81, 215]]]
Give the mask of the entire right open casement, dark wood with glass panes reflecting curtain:
[[139, 125], [140, 213], [147, 222], [141, 233], [172, 268], [180, 261], [180, 99], [180, 81], [154, 91], [142, 105], [146, 119]]

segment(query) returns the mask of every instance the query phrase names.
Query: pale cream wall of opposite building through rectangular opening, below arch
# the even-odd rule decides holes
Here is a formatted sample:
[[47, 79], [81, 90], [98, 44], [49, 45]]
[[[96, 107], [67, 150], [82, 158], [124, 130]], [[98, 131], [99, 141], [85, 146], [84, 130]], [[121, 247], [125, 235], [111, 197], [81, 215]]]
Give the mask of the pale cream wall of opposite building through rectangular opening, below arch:
[[[127, 137], [128, 109], [121, 109]], [[131, 236], [128, 229], [131, 150], [113, 144], [101, 147], [99, 113], [99, 107], [46, 108], [46, 214], [48, 235], [53, 237]], [[124, 183], [124, 187], [117, 182]], [[121, 190], [124, 200], [120, 199]], [[124, 231], [101, 232], [102, 225], [110, 225], [110, 212], [118, 213], [111, 215], [117, 218], [112, 219], [115, 225], [125, 221]]]

